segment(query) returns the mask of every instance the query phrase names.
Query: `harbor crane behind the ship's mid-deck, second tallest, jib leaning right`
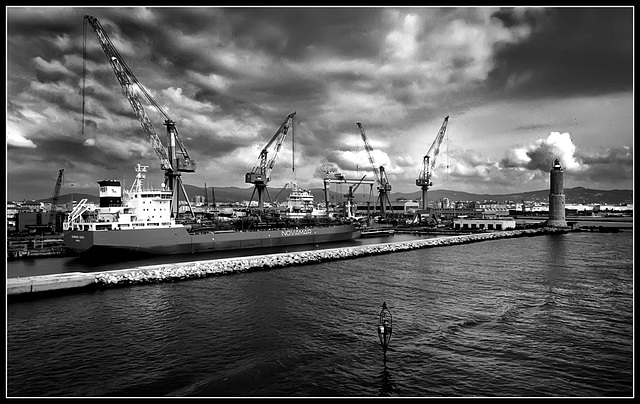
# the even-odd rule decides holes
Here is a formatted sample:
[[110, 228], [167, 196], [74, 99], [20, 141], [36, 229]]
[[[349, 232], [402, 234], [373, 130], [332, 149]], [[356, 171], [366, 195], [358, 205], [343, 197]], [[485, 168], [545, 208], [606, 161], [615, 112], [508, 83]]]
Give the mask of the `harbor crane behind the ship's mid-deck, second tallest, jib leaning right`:
[[[287, 137], [287, 132], [291, 128], [291, 137], [293, 138], [293, 117], [296, 115], [295, 111], [290, 113], [287, 118], [282, 122], [282, 125], [278, 128], [276, 133], [271, 137], [271, 140], [267, 143], [267, 145], [260, 151], [260, 155], [258, 158], [260, 159], [260, 164], [255, 166], [250, 173], [245, 174], [244, 182], [248, 184], [253, 184], [253, 192], [251, 193], [251, 199], [249, 199], [249, 205], [251, 205], [251, 201], [253, 200], [253, 196], [258, 193], [258, 209], [262, 209], [264, 206], [264, 198], [263, 195], [266, 192], [267, 196], [269, 196], [269, 191], [267, 191], [267, 183], [271, 181], [271, 170], [273, 170], [273, 166], [276, 163], [276, 157], [278, 157], [278, 152], [282, 147], [282, 143], [284, 143], [285, 138]], [[271, 156], [271, 160], [267, 161], [269, 148], [274, 146], [273, 156]], [[294, 166], [295, 171], [295, 166]], [[269, 196], [269, 200], [271, 200], [271, 196]]]

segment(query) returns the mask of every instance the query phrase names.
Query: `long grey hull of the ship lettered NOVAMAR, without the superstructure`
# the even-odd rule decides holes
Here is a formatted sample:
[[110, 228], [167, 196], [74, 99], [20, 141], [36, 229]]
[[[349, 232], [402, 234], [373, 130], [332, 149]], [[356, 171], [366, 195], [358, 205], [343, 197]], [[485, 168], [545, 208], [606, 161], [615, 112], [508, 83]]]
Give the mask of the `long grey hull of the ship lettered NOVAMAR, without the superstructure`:
[[190, 234], [185, 228], [68, 231], [65, 245], [80, 255], [135, 253], [151, 255], [194, 254], [319, 244], [359, 237], [353, 225], [279, 230], [207, 232]]

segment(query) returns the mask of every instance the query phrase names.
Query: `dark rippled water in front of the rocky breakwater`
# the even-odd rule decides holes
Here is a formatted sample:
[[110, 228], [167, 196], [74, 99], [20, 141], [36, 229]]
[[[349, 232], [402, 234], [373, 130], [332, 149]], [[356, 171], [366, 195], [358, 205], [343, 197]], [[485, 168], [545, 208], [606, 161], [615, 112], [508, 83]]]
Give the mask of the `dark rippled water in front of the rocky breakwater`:
[[631, 397], [632, 242], [501, 239], [12, 302], [7, 394]]

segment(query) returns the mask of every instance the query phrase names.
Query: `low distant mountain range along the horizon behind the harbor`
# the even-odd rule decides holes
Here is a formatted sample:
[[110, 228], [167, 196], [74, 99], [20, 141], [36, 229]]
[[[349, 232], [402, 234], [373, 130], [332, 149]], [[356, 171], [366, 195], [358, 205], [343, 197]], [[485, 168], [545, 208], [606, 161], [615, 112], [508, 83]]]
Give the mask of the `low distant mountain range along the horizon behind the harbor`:
[[[335, 187], [335, 186], [334, 186]], [[193, 198], [197, 195], [204, 197], [204, 188], [197, 187], [194, 185], [185, 185], [184, 186], [187, 195], [189, 198], [193, 200]], [[284, 201], [284, 199], [291, 192], [290, 189], [282, 189], [282, 188], [268, 188], [269, 197], [265, 197], [267, 201]], [[343, 202], [345, 200], [344, 193], [348, 191], [348, 186], [342, 186], [343, 192], [336, 192], [335, 190], [327, 191], [329, 200], [332, 202]], [[213, 203], [213, 198], [211, 195], [211, 187], [208, 187], [208, 198], [209, 203]], [[282, 191], [282, 192], [281, 192]], [[310, 190], [314, 196], [316, 202], [324, 201], [324, 190], [322, 188], [313, 188]], [[248, 201], [251, 198], [251, 194], [253, 193], [253, 188], [238, 188], [238, 187], [220, 187], [214, 188], [215, 193], [215, 202], [216, 203], [230, 203], [230, 202], [240, 202], [240, 201]], [[374, 187], [373, 189], [374, 195], [371, 196], [372, 202], [375, 202], [377, 193]], [[597, 190], [597, 189], [589, 189], [584, 187], [575, 187], [575, 188], [565, 188], [565, 202], [566, 203], [583, 203], [583, 204], [591, 204], [591, 203], [602, 203], [602, 204], [621, 204], [621, 203], [633, 203], [633, 190], [629, 189], [613, 189], [613, 190]], [[398, 199], [409, 199], [416, 200], [422, 196], [422, 191], [418, 190], [416, 192], [410, 193], [402, 193], [402, 192], [393, 192], [389, 195], [389, 199], [391, 201], [395, 201]], [[64, 194], [60, 195], [58, 199], [58, 203], [63, 204], [69, 202], [73, 197], [74, 200], [79, 201], [83, 198], [86, 198], [89, 202], [98, 202], [98, 195], [91, 194], [81, 194], [81, 193], [73, 193], [73, 194]], [[522, 201], [528, 202], [548, 202], [549, 201], [549, 190], [544, 189], [540, 191], [529, 191], [529, 192], [518, 192], [513, 194], [473, 194], [469, 192], [461, 192], [461, 191], [451, 191], [451, 190], [429, 190], [429, 200], [437, 201], [442, 198], [448, 198], [450, 201], [495, 201], [495, 202], [508, 202], [512, 201], [514, 203], [520, 203]], [[257, 200], [257, 195], [253, 196], [253, 200]], [[362, 190], [359, 190], [354, 195], [354, 200], [356, 203], [366, 203], [369, 200], [369, 192], [367, 190], [366, 193], [363, 193]], [[49, 201], [49, 198], [39, 199], [39, 201]]]

